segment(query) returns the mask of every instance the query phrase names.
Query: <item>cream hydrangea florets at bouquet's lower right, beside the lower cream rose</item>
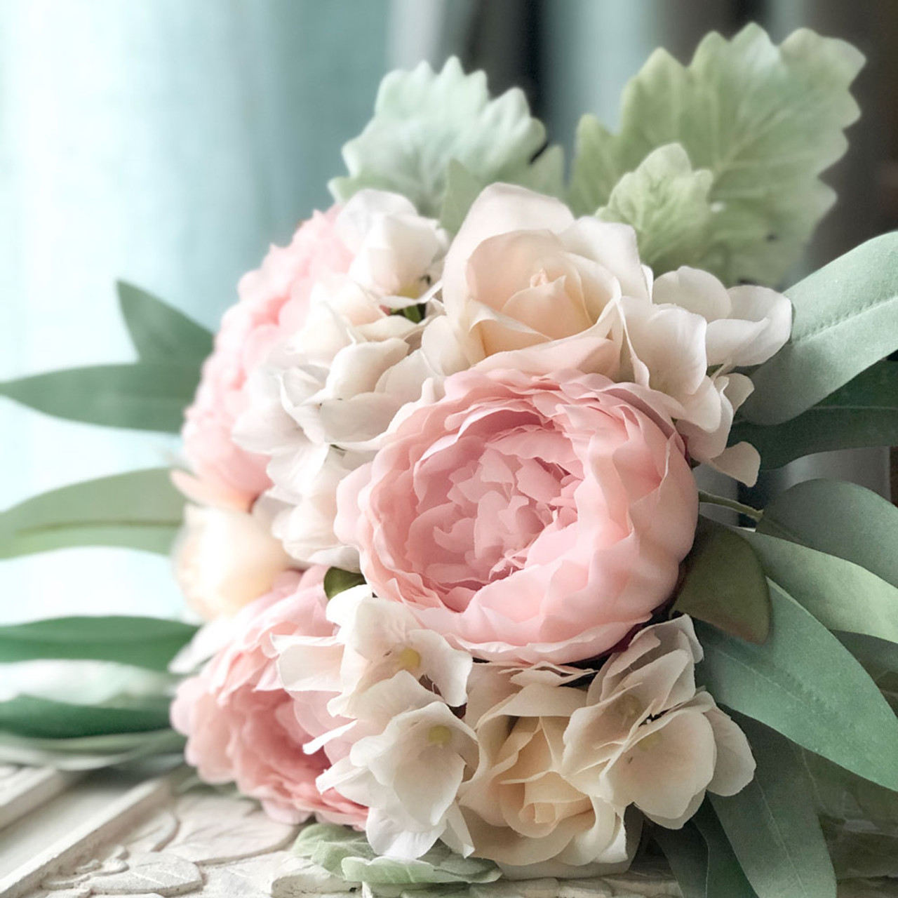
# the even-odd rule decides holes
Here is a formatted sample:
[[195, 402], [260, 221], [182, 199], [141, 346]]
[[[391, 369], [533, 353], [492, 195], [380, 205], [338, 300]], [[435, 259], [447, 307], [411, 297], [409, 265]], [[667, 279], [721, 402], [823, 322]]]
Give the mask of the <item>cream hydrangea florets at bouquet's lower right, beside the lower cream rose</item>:
[[709, 693], [696, 689], [701, 657], [687, 617], [641, 630], [612, 656], [571, 715], [562, 758], [568, 779], [672, 829], [706, 791], [744, 788], [753, 778], [751, 749]]

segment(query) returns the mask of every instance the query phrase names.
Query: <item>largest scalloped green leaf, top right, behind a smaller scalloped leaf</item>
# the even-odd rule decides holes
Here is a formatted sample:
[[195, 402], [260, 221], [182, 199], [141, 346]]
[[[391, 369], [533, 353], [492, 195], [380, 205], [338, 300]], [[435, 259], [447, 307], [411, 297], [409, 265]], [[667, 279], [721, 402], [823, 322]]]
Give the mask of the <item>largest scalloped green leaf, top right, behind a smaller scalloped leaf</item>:
[[727, 284], [778, 283], [832, 206], [817, 176], [845, 152], [862, 63], [849, 44], [805, 29], [777, 48], [757, 25], [733, 40], [709, 34], [689, 66], [656, 50], [624, 89], [617, 135], [581, 122], [571, 205], [594, 212], [652, 150], [681, 144], [714, 177], [713, 240], [699, 267]]

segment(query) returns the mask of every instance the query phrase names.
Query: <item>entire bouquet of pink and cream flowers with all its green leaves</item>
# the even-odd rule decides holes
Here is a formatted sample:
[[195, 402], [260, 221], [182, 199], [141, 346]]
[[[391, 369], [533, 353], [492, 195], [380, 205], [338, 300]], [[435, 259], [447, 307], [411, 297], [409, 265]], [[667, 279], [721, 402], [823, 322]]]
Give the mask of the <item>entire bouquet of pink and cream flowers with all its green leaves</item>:
[[308, 822], [308, 893], [898, 876], [898, 509], [825, 480], [734, 498], [898, 441], [898, 235], [772, 289], [832, 205], [861, 63], [755, 26], [689, 66], [657, 51], [617, 134], [582, 119], [567, 183], [521, 92], [393, 73], [336, 205], [242, 278], [214, 344], [120, 285], [136, 362], [2, 392], [183, 423], [184, 462], [9, 509], [2, 552], [173, 541], [211, 622], [0, 629], [0, 660], [155, 683], [0, 703], [4, 755], [186, 737], [201, 779]]

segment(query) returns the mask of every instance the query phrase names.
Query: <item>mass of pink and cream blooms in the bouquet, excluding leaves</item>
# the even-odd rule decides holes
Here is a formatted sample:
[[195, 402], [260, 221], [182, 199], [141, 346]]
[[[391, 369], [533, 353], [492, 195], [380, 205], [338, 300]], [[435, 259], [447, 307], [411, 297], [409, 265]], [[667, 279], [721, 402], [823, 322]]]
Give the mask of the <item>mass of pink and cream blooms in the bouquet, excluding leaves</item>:
[[[654, 279], [629, 227], [506, 185], [453, 240], [362, 190], [240, 295], [184, 427], [189, 489], [227, 514], [189, 515], [182, 582], [244, 605], [172, 709], [204, 779], [400, 857], [581, 869], [626, 864], [630, 806], [682, 826], [744, 786], [744, 736], [663, 611], [692, 465], [756, 472], [727, 446], [736, 369], [788, 339], [788, 300]], [[331, 566], [359, 585], [329, 602]]]

